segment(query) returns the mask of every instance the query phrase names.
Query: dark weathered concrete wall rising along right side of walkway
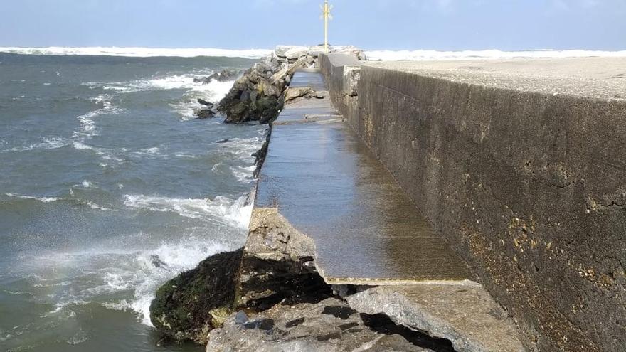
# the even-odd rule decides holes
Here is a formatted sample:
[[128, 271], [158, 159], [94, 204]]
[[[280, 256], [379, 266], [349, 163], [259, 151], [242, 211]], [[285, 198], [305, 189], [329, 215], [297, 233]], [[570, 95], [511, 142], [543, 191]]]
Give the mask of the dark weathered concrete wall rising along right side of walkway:
[[[351, 64], [351, 63], [350, 63]], [[626, 102], [364, 66], [336, 107], [540, 351], [626, 351]]]

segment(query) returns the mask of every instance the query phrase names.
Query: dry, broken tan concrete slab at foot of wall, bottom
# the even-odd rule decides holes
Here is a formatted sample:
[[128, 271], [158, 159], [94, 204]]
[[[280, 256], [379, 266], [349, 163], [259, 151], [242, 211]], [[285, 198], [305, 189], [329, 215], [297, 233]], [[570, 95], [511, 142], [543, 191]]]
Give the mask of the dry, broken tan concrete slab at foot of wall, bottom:
[[478, 284], [385, 286], [346, 297], [367, 314], [446, 338], [459, 352], [526, 351], [512, 321]]

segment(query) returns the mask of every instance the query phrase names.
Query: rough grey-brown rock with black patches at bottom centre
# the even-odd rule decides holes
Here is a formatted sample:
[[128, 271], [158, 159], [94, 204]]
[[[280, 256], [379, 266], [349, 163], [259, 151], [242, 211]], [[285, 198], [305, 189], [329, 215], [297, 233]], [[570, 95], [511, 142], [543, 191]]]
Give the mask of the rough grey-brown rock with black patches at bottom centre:
[[[398, 334], [373, 331], [339, 299], [317, 304], [277, 304], [256, 316], [240, 311], [211, 331], [207, 352], [222, 351], [431, 351]], [[440, 350], [442, 351], [442, 350]]]

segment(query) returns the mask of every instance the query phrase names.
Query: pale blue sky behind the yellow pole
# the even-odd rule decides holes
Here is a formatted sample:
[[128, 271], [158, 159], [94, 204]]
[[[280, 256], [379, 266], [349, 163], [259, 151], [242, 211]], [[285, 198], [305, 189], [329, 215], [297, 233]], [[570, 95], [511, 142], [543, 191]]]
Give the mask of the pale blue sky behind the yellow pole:
[[[0, 46], [322, 43], [322, 0], [0, 0]], [[626, 49], [626, 0], [331, 0], [329, 42], [369, 50]]]

